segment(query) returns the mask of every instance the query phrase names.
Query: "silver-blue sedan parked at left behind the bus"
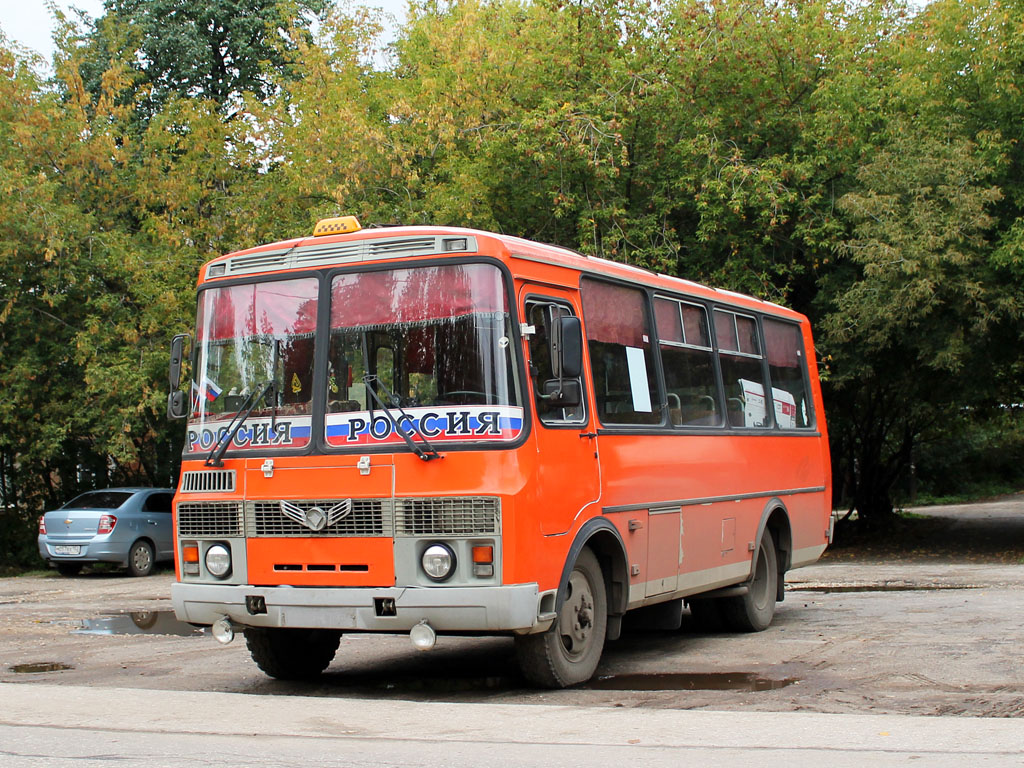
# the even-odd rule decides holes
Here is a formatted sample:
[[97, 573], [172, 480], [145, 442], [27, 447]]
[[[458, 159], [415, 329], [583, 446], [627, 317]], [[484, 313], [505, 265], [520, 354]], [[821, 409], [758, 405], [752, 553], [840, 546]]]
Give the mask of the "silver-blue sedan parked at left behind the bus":
[[148, 575], [161, 560], [174, 559], [168, 488], [106, 488], [72, 499], [39, 518], [39, 554], [62, 575], [92, 562], [128, 567]]

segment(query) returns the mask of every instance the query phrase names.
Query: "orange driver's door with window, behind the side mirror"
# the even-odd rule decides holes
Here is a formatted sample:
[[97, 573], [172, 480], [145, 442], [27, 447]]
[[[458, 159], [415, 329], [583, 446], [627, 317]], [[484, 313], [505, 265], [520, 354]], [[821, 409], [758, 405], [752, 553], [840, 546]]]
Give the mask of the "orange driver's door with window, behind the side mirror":
[[583, 402], [572, 408], [553, 404], [542, 394], [545, 381], [558, 379], [558, 318], [579, 316], [572, 295], [549, 286], [526, 285], [520, 292], [527, 326], [526, 369], [534, 403], [537, 445], [538, 504], [543, 508], [541, 530], [564, 534], [584, 509], [599, 499], [597, 434], [587, 407], [587, 387], [580, 381]]

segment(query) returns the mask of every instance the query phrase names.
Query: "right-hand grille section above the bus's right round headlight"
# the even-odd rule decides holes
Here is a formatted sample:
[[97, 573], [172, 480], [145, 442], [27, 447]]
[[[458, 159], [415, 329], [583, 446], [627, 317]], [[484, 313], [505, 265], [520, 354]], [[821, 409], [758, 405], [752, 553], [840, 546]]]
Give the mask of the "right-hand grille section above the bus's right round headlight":
[[395, 499], [396, 536], [498, 534], [501, 503], [492, 497]]

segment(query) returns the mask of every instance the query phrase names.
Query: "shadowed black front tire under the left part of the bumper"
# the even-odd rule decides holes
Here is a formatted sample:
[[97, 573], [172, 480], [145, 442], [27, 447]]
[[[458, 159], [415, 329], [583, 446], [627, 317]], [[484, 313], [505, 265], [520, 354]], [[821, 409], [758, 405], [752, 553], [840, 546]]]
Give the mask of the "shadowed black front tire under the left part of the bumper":
[[312, 680], [334, 659], [341, 633], [334, 630], [263, 629], [245, 631], [256, 666], [278, 680]]

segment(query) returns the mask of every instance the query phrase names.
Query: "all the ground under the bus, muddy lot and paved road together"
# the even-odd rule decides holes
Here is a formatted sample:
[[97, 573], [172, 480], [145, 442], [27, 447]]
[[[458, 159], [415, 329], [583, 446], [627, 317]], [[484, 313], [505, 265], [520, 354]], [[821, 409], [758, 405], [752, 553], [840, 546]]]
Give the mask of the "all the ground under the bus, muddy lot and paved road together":
[[2, 579], [0, 768], [1024, 766], [1024, 496], [927, 514], [975, 548], [826, 559], [765, 632], [630, 632], [563, 691], [508, 638], [345, 636], [284, 683], [176, 627], [169, 572]]

